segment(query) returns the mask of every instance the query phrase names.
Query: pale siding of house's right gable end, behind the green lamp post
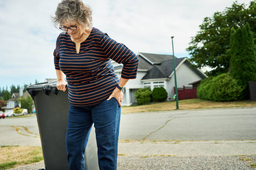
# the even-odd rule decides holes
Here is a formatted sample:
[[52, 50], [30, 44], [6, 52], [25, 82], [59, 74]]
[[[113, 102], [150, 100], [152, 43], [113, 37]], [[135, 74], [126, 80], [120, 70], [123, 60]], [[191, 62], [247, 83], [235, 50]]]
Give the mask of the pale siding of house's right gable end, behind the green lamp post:
[[[176, 77], [177, 77], [177, 87], [182, 88], [183, 85], [188, 87], [192, 85], [188, 85], [191, 82], [195, 82], [197, 80], [202, 80], [202, 75], [197, 74], [195, 71], [193, 71], [195, 68], [191, 68], [188, 61], [185, 61], [180, 67], [176, 70]], [[167, 93], [168, 93], [168, 101], [174, 100], [174, 74], [172, 75], [171, 79], [167, 82]]]

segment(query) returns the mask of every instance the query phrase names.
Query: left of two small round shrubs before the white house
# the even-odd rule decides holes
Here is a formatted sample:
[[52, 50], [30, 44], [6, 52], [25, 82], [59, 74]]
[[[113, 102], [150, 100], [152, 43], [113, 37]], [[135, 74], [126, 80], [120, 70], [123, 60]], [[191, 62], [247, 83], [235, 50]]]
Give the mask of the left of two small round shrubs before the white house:
[[152, 95], [152, 92], [150, 87], [141, 88], [135, 92], [135, 98], [138, 104], [140, 105], [151, 102], [151, 95]]

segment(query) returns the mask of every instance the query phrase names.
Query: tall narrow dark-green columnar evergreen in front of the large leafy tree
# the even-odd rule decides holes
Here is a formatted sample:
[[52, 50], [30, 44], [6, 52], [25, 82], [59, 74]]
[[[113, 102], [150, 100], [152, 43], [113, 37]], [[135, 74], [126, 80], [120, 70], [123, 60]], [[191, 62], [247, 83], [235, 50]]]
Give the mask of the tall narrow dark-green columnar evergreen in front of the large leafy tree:
[[231, 29], [230, 55], [230, 75], [243, 89], [241, 99], [248, 99], [248, 81], [256, 81], [256, 46], [248, 23]]

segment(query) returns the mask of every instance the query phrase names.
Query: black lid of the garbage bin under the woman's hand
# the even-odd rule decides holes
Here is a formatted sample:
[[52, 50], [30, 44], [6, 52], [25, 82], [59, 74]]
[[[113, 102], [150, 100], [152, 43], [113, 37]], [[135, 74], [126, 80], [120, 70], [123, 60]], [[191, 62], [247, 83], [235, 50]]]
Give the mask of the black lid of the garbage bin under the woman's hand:
[[[40, 82], [36, 83], [34, 85], [29, 85], [26, 87], [26, 90], [28, 90], [28, 93], [31, 95], [31, 97], [34, 99], [34, 96], [38, 94], [39, 91], [43, 90], [46, 95], [49, 95], [51, 91], [58, 95], [59, 90], [57, 89], [57, 80], [47, 81], [47, 82]], [[65, 80], [67, 82], [67, 80]], [[68, 85], [66, 85], [66, 88], [68, 88]]]

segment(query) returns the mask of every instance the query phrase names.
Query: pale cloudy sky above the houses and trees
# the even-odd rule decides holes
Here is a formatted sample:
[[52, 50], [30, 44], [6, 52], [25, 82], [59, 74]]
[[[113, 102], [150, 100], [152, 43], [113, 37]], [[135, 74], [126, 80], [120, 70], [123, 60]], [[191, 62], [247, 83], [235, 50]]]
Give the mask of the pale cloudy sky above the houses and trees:
[[[54, 27], [60, 0], [0, 0], [0, 88], [56, 78], [53, 52], [61, 32]], [[186, 48], [205, 17], [233, 0], [83, 0], [93, 27], [133, 52], [190, 57]], [[238, 0], [249, 4], [250, 0]]]

